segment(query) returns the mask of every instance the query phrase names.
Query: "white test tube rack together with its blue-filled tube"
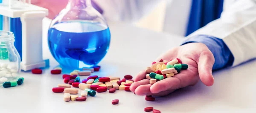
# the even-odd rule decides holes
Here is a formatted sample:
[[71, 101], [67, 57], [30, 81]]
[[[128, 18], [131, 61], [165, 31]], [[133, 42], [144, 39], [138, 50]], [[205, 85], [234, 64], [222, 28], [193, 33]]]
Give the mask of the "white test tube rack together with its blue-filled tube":
[[[0, 15], [3, 18], [2, 30], [12, 32], [12, 28], [20, 27], [20, 29], [15, 29], [14, 32], [14, 35], [16, 35], [15, 48], [22, 48], [20, 51], [18, 50], [22, 59], [20, 67], [21, 70], [28, 71], [49, 65], [49, 59], [43, 60], [42, 45], [42, 24], [44, 17], [48, 15], [48, 9], [28, 3], [25, 5], [26, 7], [23, 9], [10, 9], [9, 6], [0, 6]], [[17, 19], [17, 22], [11, 23], [12, 19]], [[19, 22], [21, 25], [19, 25]], [[17, 25], [12, 25], [15, 23]]]

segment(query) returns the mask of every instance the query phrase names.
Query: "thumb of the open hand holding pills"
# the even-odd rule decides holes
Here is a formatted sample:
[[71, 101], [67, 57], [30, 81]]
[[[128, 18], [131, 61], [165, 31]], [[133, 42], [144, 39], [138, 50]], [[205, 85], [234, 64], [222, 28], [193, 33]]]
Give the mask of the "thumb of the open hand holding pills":
[[214, 78], [212, 76], [214, 62], [214, 56], [209, 50], [200, 53], [198, 58], [198, 73], [199, 78], [206, 86], [212, 86], [214, 83]]

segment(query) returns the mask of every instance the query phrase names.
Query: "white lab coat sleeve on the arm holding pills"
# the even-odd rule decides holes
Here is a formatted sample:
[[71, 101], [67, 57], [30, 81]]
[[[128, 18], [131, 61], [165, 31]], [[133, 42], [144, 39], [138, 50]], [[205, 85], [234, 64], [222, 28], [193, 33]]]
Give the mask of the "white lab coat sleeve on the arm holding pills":
[[236, 0], [217, 20], [187, 36], [221, 38], [234, 56], [233, 67], [256, 58], [256, 0]]

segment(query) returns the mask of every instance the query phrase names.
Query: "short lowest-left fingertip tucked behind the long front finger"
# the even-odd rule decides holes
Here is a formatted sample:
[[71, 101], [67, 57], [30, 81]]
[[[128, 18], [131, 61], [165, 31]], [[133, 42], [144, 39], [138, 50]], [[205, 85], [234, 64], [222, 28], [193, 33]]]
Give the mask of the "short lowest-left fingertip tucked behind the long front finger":
[[151, 87], [151, 84], [140, 85], [135, 89], [134, 93], [136, 93], [136, 95], [138, 96], [151, 95], [150, 87]]

